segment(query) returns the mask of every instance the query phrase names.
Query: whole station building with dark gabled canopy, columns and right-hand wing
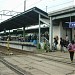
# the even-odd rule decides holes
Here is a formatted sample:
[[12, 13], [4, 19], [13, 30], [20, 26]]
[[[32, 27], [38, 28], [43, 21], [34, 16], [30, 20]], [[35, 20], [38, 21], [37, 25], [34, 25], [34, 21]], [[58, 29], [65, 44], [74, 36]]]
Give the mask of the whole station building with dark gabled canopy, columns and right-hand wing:
[[1, 22], [0, 31], [23, 27], [23, 33], [25, 33], [25, 27], [39, 25], [38, 33], [40, 43], [41, 24], [46, 24], [49, 27], [50, 49], [52, 49], [53, 38], [55, 36], [58, 36], [59, 42], [60, 38], [62, 37], [65, 39], [66, 35], [68, 35], [70, 41], [75, 40], [75, 6], [50, 13], [46, 13], [37, 7], [33, 7]]

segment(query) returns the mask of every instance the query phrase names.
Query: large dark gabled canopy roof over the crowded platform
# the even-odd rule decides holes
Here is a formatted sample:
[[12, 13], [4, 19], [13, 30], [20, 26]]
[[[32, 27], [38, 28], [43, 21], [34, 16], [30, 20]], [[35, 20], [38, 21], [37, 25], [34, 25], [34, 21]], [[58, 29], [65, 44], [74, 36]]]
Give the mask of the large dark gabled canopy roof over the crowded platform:
[[25, 12], [13, 16], [0, 23], [0, 31], [11, 30], [21, 27], [29, 27], [39, 23], [39, 14], [42, 18], [49, 18], [48, 14], [43, 10], [33, 7]]

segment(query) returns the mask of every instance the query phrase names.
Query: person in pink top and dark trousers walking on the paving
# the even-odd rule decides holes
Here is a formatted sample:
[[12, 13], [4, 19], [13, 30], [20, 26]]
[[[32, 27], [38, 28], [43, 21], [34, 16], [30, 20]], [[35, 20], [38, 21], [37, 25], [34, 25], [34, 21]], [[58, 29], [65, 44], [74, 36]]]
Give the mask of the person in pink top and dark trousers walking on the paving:
[[71, 62], [73, 62], [74, 52], [75, 52], [75, 43], [74, 43], [74, 41], [71, 41], [71, 43], [69, 43], [68, 51], [70, 53], [70, 60], [71, 60]]

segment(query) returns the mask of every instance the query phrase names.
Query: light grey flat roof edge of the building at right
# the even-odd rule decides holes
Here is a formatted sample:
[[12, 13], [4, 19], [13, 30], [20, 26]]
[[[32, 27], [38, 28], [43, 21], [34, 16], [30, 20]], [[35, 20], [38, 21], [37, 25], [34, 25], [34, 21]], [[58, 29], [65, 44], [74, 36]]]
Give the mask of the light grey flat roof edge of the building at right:
[[64, 18], [66, 19], [67, 17], [73, 17], [75, 18], [75, 6], [70, 6], [67, 8], [63, 8], [61, 10], [57, 10], [54, 12], [50, 12], [49, 16], [52, 17], [52, 20], [56, 20], [56, 19], [61, 19]]

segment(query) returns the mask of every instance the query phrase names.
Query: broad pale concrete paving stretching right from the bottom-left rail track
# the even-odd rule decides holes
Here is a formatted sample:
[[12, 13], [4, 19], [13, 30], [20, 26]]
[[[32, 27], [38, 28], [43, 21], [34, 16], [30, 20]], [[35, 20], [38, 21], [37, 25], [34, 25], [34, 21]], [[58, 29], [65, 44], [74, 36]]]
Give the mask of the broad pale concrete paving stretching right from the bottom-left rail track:
[[69, 52], [13, 55], [4, 57], [4, 60], [29, 75], [75, 75], [75, 56], [74, 62], [70, 63]]

